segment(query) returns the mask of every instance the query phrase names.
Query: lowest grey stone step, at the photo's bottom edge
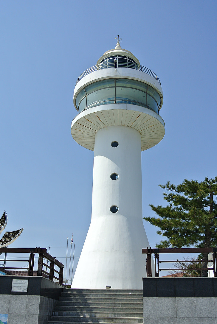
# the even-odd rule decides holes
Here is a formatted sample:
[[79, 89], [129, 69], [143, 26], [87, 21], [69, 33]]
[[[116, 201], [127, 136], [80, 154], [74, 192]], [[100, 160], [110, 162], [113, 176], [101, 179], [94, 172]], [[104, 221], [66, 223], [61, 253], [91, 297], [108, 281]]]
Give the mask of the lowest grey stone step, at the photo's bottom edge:
[[85, 317], [85, 316], [51, 316], [50, 322], [89, 322], [89, 323], [143, 323], [143, 318], [126, 317]]

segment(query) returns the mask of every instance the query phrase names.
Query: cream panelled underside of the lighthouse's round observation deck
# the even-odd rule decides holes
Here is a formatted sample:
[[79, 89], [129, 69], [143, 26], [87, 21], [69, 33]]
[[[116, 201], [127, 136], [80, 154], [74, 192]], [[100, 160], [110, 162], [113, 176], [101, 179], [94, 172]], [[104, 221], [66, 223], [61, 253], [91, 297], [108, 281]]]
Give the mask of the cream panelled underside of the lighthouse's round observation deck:
[[95, 134], [108, 126], [127, 126], [141, 134], [141, 150], [147, 150], [158, 144], [164, 136], [164, 125], [157, 118], [140, 111], [109, 109], [94, 111], [72, 123], [71, 133], [74, 140], [94, 151]]

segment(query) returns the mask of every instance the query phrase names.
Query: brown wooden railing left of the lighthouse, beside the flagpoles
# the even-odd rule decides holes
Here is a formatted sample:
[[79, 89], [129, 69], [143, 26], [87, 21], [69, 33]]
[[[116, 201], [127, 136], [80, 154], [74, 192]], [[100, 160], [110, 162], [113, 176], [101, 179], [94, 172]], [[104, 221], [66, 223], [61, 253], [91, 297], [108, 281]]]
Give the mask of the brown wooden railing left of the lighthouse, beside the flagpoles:
[[[47, 249], [41, 249], [41, 248], [35, 248], [35, 249], [19, 249], [19, 248], [0, 248], [0, 254], [2, 253], [29, 253], [29, 260], [20, 260], [20, 259], [13, 259], [13, 260], [0, 260], [1, 261], [6, 261], [6, 262], [29, 262], [29, 266], [27, 267], [6, 267], [4, 266], [3, 268], [0, 268], [0, 270], [5, 270], [7, 273], [9, 273], [10, 270], [28, 270], [28, 276], [33, 276], [33, 267], [34, 267], [34, 259], [35, 259], [35, 253], [38, 254], [38, 269], [37, 269], [37, 276], [46, 276], [49, 277], [50, 280], [57, 279], [59, 284], [63, 284], [63, 269], [64, 265], [56, 260], [54, 257], [52, 257], [50, 254], [47, 253]], [[47, 263], [44, 263], [44, 260], [47, 260]], [[48, 264], [48, 261], [50, 264]], [[46, 267], [46, 270], [43, 270], [43, 266]], [[59, 268], [56, 270], [54, 267]], [[54, 273], [57, 273], [57, 276], [54, 276]]]

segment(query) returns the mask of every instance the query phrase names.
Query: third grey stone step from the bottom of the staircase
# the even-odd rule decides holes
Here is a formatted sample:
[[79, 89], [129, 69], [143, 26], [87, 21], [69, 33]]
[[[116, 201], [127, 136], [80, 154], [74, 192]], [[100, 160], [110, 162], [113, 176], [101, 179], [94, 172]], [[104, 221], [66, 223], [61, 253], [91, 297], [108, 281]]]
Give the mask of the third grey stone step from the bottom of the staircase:
[[[101, 306], [96, 306], [96, 307], [89, 307], [89, 306], [65, 306], [65, 305], [57, 305], [55, 307], [56, 311], [77, 311], [79, 313], [81, 312], [96, 312], [96, 311], [100, 311], [100, 312], [119, 312], [121, 311], [125, 311], [124, 307], [110, 307], [110, 305], [107, 305], [106, 307], [101, 307]], [[126, 308], [127, 312], [143, 312], [143, 307], [141, 305], [141, 307], [127, 307]]]

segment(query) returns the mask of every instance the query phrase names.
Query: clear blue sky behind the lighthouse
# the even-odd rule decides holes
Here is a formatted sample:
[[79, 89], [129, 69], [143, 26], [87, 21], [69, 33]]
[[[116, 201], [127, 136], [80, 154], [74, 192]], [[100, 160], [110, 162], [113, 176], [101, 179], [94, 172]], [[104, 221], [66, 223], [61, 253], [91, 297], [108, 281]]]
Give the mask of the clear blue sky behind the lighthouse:
[[[158, 75], [166, 133], [142, 152], [143, 215], [158, 185], [216, 173], [216, 1], [1, 1], [0, 213], [13, 247], [51, 247], [75, 266], [91, 217], [93, 152], [70, 133], [78, 76], [116, 45]], [[160, 240], [144, 223], [151, 247]], [[11, 246], [12, 247], [12, 246]], [[74, 267], [75, 270], [75, 267]]]

